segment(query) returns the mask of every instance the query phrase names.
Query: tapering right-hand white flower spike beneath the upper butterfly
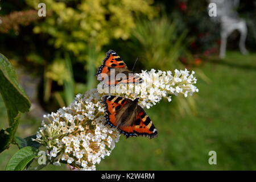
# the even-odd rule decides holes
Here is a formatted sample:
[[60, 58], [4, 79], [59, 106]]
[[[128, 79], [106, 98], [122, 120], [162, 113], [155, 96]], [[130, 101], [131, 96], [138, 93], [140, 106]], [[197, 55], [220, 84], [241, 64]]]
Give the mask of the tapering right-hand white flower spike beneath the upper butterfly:
[[108, 87], [104, 82], [101, 82], [98, 84], [97, 90], [101, 94], [112, 94], [130, 98], [131, 100], [139, 98], [138, 104], [142, 107], [147, 107], [147, 109], [155, 105], [163, 97], [171, 102], [172, 95], [183, 94], [187, 97], [199, 91], [194, 85], [197, 81], [193, 76], [195, 74], [194, 71], [189, 74], [187, 69], [184, 71], [175, 69], [174, 72], [175, 74], [172, 75], [171, 71], [156, 72], [155, 69], [142, 71], [142, 73], [137, 74], [143, 79], [142, 84], [118, 84], [114, 87]]

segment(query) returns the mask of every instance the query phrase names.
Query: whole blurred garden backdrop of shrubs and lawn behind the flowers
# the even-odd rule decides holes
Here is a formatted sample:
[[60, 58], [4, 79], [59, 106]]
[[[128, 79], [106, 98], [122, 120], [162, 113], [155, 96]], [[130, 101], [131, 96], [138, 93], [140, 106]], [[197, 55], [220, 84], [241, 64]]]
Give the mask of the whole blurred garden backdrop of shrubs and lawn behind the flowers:
[[[46, 3], [46, 17], [38, 4]], [[14, 66], [32, 102], [16, 135], [35, 134], [43, 114], [69, 105], [77, 93], [94, 88], [105, 52], [113, 49], [135, 72], [187, 68], [198, 78], [199, 93], [161, 101], [147, 114], [158, 138], [121, 137], [100, 170], [255, 170], [256, 169], [256, 2], [237, 8], [246, 20], [247, 55], [240, 34], [228, 39], [218, 58], [220, 24], [210, 20], [207, 1], [0, 1], [0, 53]], [[0, 98], [0, 127], [8, 127]], [[1, 142], [1, 141], [0, 141]], [[0, 154], [0, 169], [18, 147]], [[217, 164], [208, 163], [209, 151]], [[44, 170], [68, 169], [48, 166]]]

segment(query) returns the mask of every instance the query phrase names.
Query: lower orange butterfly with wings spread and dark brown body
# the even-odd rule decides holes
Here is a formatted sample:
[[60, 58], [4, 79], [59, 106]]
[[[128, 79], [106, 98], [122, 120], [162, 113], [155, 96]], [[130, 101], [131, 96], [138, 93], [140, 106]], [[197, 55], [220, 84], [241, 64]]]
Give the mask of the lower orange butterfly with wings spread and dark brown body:
[[138, 105], [139, 98], [134, 101], [118, 96], [104, 96], [106, 124], [117, 127], [121, 134], [128, 137], [157, 137], [157, 130], [151, 119]]

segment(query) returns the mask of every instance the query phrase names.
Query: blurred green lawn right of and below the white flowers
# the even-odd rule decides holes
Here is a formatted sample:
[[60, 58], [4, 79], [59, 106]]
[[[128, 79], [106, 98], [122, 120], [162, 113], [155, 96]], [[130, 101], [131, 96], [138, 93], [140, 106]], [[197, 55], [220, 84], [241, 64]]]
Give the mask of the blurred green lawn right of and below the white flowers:
[[[211, 82], [198, 80], [197, 115], [173, 117], [166, 101], [147, 110], [159, 136], [121, 137], [100, 170], [256, 170], [256, 54], [229, 52], [225, 60], [206, 61], [201, 70]], [[6, 122], [0, 102], [0, 119]], [[18, 135], [33, 134], [23, 122]], [[33, 124], [35, 127], [35, 124]], [[2, 126], [2, 124], [1, 124]], [[0, 154], [0, 169], [17, 150]], [[217, 165], [209, 165], [209, 151]], [[64, 169], [47, 167], [44, 169]]]

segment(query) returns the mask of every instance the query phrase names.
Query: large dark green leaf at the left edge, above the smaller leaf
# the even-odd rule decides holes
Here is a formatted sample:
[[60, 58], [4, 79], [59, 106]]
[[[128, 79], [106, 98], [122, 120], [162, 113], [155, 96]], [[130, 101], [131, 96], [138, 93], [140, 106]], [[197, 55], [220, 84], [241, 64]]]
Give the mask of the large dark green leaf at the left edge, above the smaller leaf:
[[9, 128], [0, 131], [0, 152], [9, 147], [13, 141], [20, 113], [30, 109], [30, 100], [18, 84], [16, 74], [5, 56], [0, 53], [0, 93], [6, 105]]

